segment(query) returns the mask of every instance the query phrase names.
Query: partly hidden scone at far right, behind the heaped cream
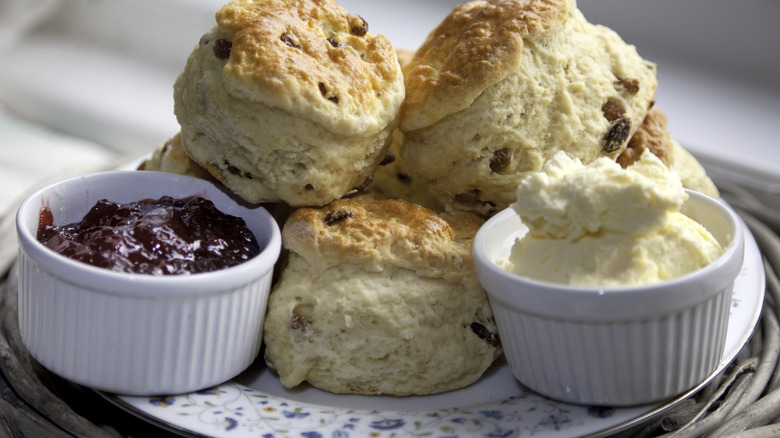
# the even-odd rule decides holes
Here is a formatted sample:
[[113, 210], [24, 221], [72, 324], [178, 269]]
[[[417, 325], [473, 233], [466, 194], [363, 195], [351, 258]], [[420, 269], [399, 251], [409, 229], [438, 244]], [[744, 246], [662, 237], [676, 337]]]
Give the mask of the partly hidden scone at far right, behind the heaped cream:
[[649, 150], [680, 175], [683, 187], [713, 198], [719, 197], [718, 188], [704, 167], [671, 136], [668, 123], [666, 115], [658, 107], [653, 107], [629, 140], [628, 147], [618, 156], [617, 162], [622, 167], [628, 167], [642, 156], [642, 152]]

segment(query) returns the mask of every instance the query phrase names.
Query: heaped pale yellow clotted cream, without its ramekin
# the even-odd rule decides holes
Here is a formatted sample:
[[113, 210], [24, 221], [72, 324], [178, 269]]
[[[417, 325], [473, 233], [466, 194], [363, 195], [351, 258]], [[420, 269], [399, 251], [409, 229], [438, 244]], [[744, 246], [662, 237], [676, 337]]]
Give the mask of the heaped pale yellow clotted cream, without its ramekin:
[[572, 286], [630, 286], [669, 280], [715, 260], [722, 248], [680, 212], [679, 176], [649, 152], [623, 169], [609, 158], [583, 165], [559, 152], [529, 173], [512, 208], [528, 233], [508, 270]]

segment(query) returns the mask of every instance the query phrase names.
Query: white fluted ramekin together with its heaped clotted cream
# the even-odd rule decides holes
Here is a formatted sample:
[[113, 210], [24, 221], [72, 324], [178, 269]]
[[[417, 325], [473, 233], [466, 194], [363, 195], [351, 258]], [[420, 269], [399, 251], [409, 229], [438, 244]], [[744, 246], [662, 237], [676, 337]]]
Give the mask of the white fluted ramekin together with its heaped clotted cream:
[[559, 153], [474, 239], [507, 362], [576, 404], [662, 401], [720, 365], [744, 224], [655, 156], [622, 169]]

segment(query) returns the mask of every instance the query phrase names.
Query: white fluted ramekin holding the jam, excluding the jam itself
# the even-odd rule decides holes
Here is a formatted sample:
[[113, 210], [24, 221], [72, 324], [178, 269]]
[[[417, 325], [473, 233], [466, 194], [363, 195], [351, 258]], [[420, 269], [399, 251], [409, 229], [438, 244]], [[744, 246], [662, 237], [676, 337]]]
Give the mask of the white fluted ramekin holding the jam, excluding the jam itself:
[[[55, 224], [81, 220], [100, 199], [199, 195], [244, 219], [256, 257], [228, 269], [153, 276], [97, 268], [36, 240], [47, 206]], [[73, 382], [129, 395], [176, 394], [219, 384], [257, 356], [279, 227], [201, 179], [161, 172], [102, 172], [57, 182], [28, 197], [16, 217], [19, 330], [30, 354]]]

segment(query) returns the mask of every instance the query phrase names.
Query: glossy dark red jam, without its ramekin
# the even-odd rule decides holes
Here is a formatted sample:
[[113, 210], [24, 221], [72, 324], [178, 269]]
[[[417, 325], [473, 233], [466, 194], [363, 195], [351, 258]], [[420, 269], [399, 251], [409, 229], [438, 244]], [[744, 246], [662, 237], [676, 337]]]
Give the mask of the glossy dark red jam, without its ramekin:
[[44, 207], [38, 241], [74, 260], [119, 272], [183, 275], [228, 268], [260, 252], [240, 217], [202, 197], [98, 201], [80, 222], [54, 225]]

